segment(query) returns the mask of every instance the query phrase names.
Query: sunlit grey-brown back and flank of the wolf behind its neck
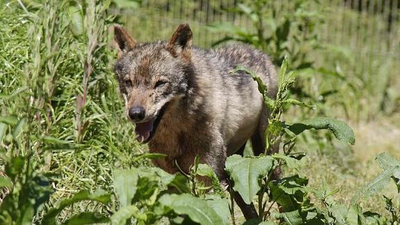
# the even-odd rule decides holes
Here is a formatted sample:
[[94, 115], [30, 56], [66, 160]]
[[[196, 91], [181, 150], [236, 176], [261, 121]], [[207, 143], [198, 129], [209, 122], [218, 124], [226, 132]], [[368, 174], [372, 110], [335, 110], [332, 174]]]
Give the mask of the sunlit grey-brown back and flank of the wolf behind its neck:
[[277, 75], [263, 52], [246, 45], [227, 45], [218, 49], [193, 48], [192, 62], [200, 93], [205, 93], [202, 110], [210, 115], [210, 124], [223, 134], [227, 155], [255, 133], [263, 114], [264, 101], [257, 83], [246, 72], [232, 72], [243, 65], [255, 72], [267, 86], [269, 98], [278, 90]]

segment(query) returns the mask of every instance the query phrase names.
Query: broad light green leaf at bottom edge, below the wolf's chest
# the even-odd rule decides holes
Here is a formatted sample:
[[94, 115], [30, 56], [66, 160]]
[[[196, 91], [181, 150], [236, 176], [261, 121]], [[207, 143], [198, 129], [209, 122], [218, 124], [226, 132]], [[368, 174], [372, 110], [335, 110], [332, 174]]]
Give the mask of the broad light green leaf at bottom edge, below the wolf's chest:
[[224, 224], [224, 219], [207, 201], [191, 194], [164, 194], [159, 202], [178, 215], [188, 215], [193, 222], [205, 225]]

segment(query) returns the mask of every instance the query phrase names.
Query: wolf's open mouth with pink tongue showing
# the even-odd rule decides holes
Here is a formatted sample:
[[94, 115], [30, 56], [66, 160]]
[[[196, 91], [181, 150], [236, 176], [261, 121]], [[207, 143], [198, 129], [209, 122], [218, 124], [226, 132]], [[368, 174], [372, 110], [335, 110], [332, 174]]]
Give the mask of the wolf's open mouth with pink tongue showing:
[[159, 114], [154, 116], [150, 121], [144, 123], [136, 123], [135, 133], [138, 136], [138, 141], [141, 141], [142, 143], [147, 143], [150, 141], [150, 139], [152, 139], [152, 137], [156, 133], [161, 118], [166, 111], [167, 104], [168, 103], [164, 104], [163, 107], [161, 107]]

